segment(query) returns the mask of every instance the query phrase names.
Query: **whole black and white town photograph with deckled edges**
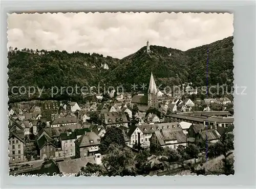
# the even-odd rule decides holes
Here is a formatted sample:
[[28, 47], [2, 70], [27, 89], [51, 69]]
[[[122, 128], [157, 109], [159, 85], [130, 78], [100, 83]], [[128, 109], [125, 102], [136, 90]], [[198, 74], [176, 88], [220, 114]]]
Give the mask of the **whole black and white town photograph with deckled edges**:
[[233, 14], [7, 22], [9, 175], [234, 175]]

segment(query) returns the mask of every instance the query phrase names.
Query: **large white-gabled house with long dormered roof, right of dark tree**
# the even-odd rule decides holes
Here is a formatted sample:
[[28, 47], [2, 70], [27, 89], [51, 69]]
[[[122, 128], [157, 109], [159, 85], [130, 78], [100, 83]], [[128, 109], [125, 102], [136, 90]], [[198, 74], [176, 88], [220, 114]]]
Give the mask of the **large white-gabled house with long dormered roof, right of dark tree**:
[[133, 125], [127, 132], [127, 137], [130, 139], [130, 146], [140, 142], [142, 147], [150, 147], [150, 138], [156, 130], [160, 129], [175, 129], [179, 128], [178, 122], [173, 123], [159, 123], [159, 124], [145, 124]]

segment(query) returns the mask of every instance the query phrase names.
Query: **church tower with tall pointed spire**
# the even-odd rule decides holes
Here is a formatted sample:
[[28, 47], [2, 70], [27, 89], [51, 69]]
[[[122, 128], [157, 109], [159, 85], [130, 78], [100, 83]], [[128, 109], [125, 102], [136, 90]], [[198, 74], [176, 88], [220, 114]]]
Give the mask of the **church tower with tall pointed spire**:
[[157, 91], [155, 79], [154, 79], [153, 73], [151, 72], [150, 86], [148, 87], [148, 91], [147, 91], [147, 106], [149, 107], [158, 106], [157, 92], [158, 91]]

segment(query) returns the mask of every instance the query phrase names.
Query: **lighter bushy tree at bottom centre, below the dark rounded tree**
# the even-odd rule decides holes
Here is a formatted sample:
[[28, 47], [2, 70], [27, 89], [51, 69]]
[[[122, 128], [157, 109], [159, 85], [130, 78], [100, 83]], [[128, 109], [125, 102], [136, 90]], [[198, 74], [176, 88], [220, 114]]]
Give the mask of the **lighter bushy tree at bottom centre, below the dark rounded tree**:
[[135, 176], [135, 155], [128, 148], [111, 144], [109, 152], [102, 158], [102, 164], [108, 170], [109, 176]]

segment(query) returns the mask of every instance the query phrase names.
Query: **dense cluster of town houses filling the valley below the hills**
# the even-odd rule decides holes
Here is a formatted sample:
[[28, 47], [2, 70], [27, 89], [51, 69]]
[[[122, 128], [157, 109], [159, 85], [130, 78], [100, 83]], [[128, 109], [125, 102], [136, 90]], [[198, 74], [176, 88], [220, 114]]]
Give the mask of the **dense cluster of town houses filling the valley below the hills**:
[[[227, 97], [193, 101], [163, 95], [156, 88], [153, 74], [147, 95], [110, 96], [106, 102], [13, 105], [8, 113], [10, 163], [27, 161], [27, 145], [31, 142], [37, 149], [31, 160], [94, 156], [106, 129], [113, 126], [122, 129], [125, 143], [131, 148], [135, 144], [177, 148], [206, 137], [216, 142], [224, 131], [233, 128], [233, 110], [228, 108], [232, 102]], [[101, 94], [96, 99], [102, 99]], [[152, 107], [160, 114], [148, 112]], [[100, 121], [95, 121], [95, 116]]]

